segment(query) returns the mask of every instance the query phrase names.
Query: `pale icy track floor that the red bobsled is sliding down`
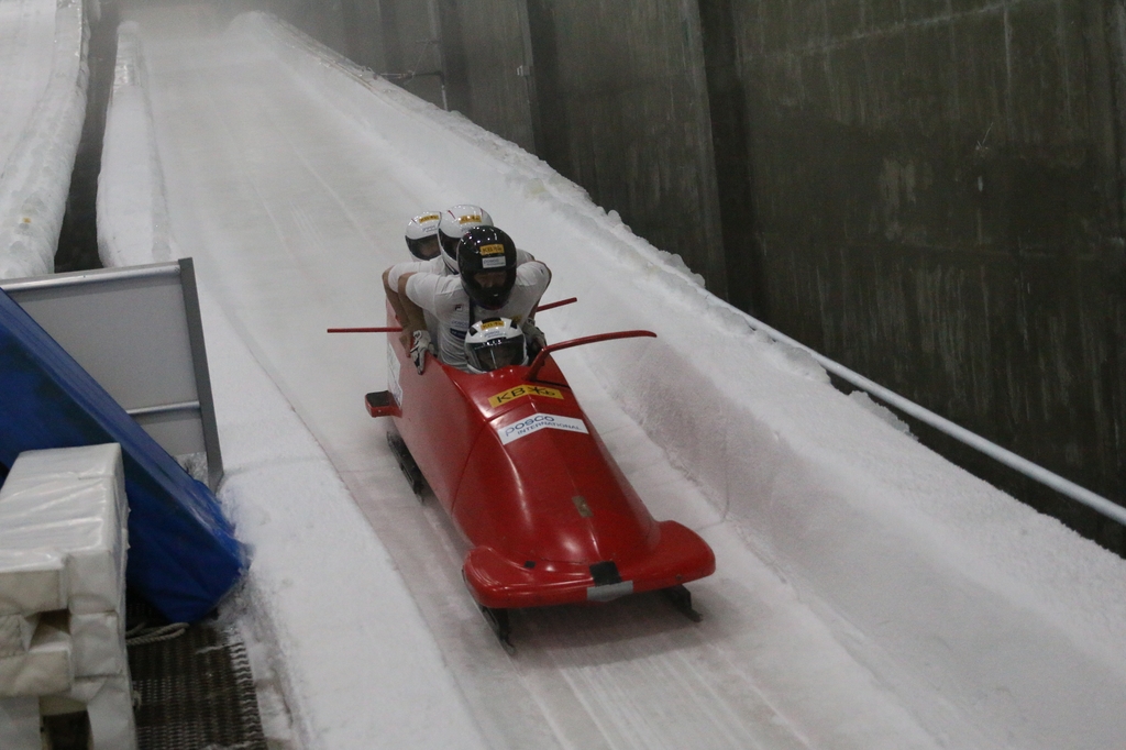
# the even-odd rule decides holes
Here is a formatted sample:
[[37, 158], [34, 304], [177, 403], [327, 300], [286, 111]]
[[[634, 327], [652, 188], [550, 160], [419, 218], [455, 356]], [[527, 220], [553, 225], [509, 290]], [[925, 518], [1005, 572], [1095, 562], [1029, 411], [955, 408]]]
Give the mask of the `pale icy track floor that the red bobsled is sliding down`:
[[[485, 205], [518, 244], [553, 266], [548, 301], [573, 292], [579, 305], [584, 296], [597, 304], [606, 289], [568, 288], [566, 243], [582, 235], [581, 223], [564, 238], [540, 231], [546, 227], [527, 211], [535, 196], [513, 187], [503, 197], [484, 162], [480, 180], [489, 189], [485, 197], [471, 194], [474, 175], [444, 172], [429, 157], [403, 151], [251, 36], [224, 33], [206, 7], [131, 16], [145, 50], [173, 252], [195, 259], [205, 328], [230, 355], [213, 364], [218, 387], [229, 389], [216, 396], [221, 429], [241, 429], [222, 407], [238, 411], [241, 399], [232, 389], [245, 387], [248, 404], [283, 412], [292, 405], [296, 419], [279, 413], [279, 432], [283, 417], [300, 420], [318, 444], [302, 444], [298, 459], [279, 462], [303, 494], [279, 492], [271, 502], [282, 505], [261, 503], [254, 511], [260, 523], [245, 526], [259, 535], [251, 541], [261, 547], [262, 571], [254, 575], [262, 580], [269, 565], [284, 564], [287, 550], [300, 559], [316, 554], [303, 546], [313, 539], [328, 545], [321, 547], [325, 565], [336, 566], [311, 564], [309, 574], [324, 578], [295, 586], [323, 589], [310, 607], [331, 606], [325, 602], [334, 597], [350, 613], [319, 613], [321, 625], [305, 624], [315, 619], [309, 613], [302, 624], [272, 623], [278, 642], [265, 648], [279, 650], [274, 663], [303, 727], [291, 739], [295, 747], [404, 747], [402, 733], [388, 725], [414, 726], [417, 736], [448, 747], [513, 750], [1003, 747], [959, 720], [958, 697], [920, 711], [927, 699], [920, 700], [913, 678], [900, 675], [830, 607], [799, 596], [745, 527], [671, 465], [604, 389], [587, 355], [561, 355], [561, 364], [588, 416], [654, 517], [680, 520], [713, 546], [717, 573], [690, 587], [703, 623], [688, 622], [656, 596], [521, 611], [513, 616], [517, 653], [504, 653], [462, 584], [465, 550], [457, 534], [432, 498], [420, 505], [411, 494], [386, 447], [385, 426], [364, 411], [363, 394], [385, 386], [384, 341], [324, 330], [381, 323], [379, 274], [406, 258], [405, 221], [466, 200]], [[626, 275], [611, 264], [607, 277], [613, 289]], [[569, 328], [568, 310], [544, 313], [548, 337], [598, 332]], [[633, 310], [608, 319], [602, 330], [645, 327], [646, 316], [660, 314]], [[242, 360], [248, 364], [240, 369], [234, 363]], [[270, 382], [275, 396], [259, 394]], [[249, 405], [239, 419], [248, 414]], [[250, 472], [256, 461], [269, 459], [268, 443], [254, 446], [258, 457], [240, 449], [249, 449], [245, 439], [224, 447], [236, 485], [240, 467]], [[305, 481], [304, 465], [321, 472], [318, 477], [330, 465], [334, 476]], [[328, 527], [352, 523], [348, 508], [331, 505], [338, 495], [355, 503], [369, 530]], [[288, 524], [284, 542], [261, 530], [270, 523]], [[332, 539], [339, 548], [328, 548]], [[349, 562], [367, 575], [386, 571], [379, 573], [384, 601], [373, 600], [367, 575], [349, 570]], [[270, 586], [261, 586], [259, 597]], [[284, 581], [276, 588], [283, 591]], [[400, 590], [409, 596], [396, 598]], [[347, 679], [334, 677], [331, 663], [321, 670], [301, 663], [313, 658], [312, 640], [320, 659], [340, 659]], [[395, 661], [387, 671], [373, 667], [368, 679], [356, 678], [348, 660], [378, 649], [409, 651], [417, 664]], [[349, 709], [324, 708], [336, 690], [347, 693]]]

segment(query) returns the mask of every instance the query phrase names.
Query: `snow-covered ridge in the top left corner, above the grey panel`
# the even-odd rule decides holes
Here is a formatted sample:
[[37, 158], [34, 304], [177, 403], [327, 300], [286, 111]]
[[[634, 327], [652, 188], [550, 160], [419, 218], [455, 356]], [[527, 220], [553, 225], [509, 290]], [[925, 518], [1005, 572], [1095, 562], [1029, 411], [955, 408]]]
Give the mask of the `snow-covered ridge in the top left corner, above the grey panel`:
[[89, 26], [98, 0], [60, 0], [51, 78], [0, 172], [0, 278], [54, 271], [74, 154], [82, 137]]

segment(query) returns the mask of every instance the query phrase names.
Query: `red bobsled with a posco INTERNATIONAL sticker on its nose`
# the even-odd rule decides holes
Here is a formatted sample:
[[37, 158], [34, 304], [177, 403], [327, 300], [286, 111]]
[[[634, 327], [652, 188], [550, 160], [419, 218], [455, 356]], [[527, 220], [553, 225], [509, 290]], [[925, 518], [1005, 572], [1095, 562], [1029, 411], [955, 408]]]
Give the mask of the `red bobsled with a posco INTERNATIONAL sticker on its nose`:
[[715, 572], [712, 548], [677, 521], [653, 519], [552, 357], [635, 336], [655, 334], [564, 341], [529, 365], [483, 374], [430, 355], [419, 374], [399, 337], [387, 337], [388, 390], [367, 394], [368, 412], [393, 419], [388, 443], [412, 490], [421, 497], [429, 485], [472, 545], [465, 583], [507, 649], [513, 608], [662, 590], [699, 619], [683, 584]]

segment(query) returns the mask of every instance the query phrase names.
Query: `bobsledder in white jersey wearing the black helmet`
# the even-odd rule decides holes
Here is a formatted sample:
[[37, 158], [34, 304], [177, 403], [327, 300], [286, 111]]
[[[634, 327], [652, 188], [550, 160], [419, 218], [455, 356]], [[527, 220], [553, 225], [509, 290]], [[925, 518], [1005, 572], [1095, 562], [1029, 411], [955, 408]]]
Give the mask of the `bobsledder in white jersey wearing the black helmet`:
[[488, 318], [508, 318], [517, 325], [530, 322], [552, 278], [538, 260], [518, 265], [511, 238], [493, 226], [465, 233], [458, 248], [458, 269], [457, 276], [413, 273], [399, 278], [404, 333], [411, 337], [411, 354], [420, 372], [429, 345], [420, 341], [427, 319], [437, 338], [438, 357], [465, 369], [470, 327]]

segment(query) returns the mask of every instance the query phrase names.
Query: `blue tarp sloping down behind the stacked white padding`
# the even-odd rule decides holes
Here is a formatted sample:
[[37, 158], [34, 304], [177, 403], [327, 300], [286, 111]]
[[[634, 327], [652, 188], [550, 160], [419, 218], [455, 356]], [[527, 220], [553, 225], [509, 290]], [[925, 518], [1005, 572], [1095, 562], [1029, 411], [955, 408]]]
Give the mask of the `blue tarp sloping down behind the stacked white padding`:
[[0, 291], [0, 464], [104, 443], [125, 464], [129, 588], [172, 622], [200, 619], [248, 564], [217, 499]]

